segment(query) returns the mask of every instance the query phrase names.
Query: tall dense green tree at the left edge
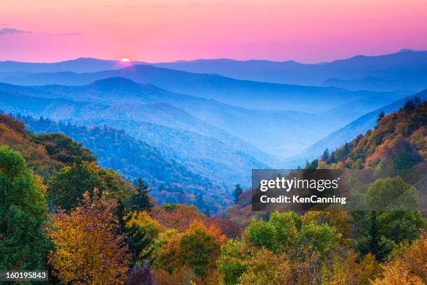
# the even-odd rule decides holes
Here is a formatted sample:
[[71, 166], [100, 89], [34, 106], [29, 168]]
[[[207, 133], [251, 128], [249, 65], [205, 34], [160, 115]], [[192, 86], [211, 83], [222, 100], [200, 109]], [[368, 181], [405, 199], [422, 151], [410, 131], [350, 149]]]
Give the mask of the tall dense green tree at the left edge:
[[0, 146], [0, 270], [43, 270], [45, 186], [19, 152]]

